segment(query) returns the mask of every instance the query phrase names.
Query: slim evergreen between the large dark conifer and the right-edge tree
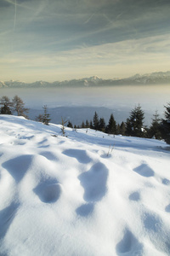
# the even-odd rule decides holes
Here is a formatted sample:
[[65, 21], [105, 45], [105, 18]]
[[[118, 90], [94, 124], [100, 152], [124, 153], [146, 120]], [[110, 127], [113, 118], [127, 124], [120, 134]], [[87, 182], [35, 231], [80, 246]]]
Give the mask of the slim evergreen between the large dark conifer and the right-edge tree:
[[161, 119], [159, 119], [159, 114], [153, 114], [154, 118], [152, 119], [152, 123], [150, 125], [150, 129], [148, 131], [149, 137], [155, 137], [156, 139], [161, 139]]

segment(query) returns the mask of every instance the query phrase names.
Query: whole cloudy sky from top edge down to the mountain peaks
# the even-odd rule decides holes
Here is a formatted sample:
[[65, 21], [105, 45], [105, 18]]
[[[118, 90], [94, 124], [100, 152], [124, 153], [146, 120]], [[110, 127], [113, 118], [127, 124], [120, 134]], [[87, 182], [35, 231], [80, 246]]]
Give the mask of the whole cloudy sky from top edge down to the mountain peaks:
[[0, 80], [170, 70], [169, 0], [0, 0]]

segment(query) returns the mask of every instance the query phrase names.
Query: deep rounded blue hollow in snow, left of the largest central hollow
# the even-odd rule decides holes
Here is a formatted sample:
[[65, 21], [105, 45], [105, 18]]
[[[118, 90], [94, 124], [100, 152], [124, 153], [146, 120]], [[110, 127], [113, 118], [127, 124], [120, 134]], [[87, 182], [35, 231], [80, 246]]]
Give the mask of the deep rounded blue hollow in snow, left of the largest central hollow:
[[58, 201], [61, 195], [61, 184], [57, 181], [55, 183], [40, 183], [33, 191], [42, 202], [54, 203]]

